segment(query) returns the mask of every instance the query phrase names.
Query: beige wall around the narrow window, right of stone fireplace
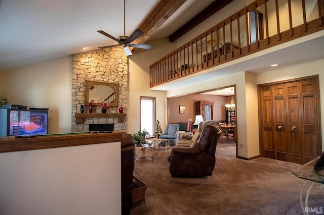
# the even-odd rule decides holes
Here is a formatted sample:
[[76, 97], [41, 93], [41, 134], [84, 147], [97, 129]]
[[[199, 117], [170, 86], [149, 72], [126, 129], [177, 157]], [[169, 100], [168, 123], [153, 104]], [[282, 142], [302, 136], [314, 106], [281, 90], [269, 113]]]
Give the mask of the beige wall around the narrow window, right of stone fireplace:
[[149, 68], [161, 56], [166, 56], [176, 49], [174, 43], [168, 38], [150, 41], [154, 45], [152, 50], [137, 49], [129, 58], [129, 109], [128, 109], [128, 132], [136, 133], [140, 129], [140, 96], [156, 97], [156, 119], [164, 129], [167, 122], [167, 98], [165, 91], [150, 90]]

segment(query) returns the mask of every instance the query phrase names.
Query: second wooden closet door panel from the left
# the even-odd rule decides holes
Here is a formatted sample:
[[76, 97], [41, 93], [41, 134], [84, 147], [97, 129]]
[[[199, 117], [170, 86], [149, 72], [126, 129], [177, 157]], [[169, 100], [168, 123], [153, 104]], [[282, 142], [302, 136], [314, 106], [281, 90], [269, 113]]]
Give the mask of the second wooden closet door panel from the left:
[[287, 113], [285, 84], [273, 86], [273, 121], [275, 159], [288, 160]]

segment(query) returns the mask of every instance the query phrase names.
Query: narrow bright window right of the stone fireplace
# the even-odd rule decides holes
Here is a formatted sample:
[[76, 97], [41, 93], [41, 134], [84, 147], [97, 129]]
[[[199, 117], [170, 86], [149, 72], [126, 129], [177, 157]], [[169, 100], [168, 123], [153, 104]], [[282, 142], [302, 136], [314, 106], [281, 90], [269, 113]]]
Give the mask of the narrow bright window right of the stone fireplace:
[[154, 125], [155, 125], [155, 97], [140, 96], [140, 124], [141, 130], [149, 132], [149, 136], [154, 136]]

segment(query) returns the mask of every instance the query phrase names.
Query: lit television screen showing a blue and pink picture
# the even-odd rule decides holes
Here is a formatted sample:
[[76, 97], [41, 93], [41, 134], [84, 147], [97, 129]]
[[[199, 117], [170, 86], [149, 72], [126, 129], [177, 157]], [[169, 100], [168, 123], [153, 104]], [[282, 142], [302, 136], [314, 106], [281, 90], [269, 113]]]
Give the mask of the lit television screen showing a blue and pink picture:
[[48, 111], [10, 110], [8, 136], [47, 134]]

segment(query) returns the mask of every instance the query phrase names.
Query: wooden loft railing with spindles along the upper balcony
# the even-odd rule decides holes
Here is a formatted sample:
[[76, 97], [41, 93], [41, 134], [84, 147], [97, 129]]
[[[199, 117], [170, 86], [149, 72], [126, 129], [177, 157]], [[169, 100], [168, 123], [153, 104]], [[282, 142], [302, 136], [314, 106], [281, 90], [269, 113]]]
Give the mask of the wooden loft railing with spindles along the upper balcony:
[[150, 87], [324, 29], [324, 0], [258, 0], [150, 66]]

